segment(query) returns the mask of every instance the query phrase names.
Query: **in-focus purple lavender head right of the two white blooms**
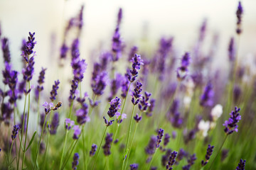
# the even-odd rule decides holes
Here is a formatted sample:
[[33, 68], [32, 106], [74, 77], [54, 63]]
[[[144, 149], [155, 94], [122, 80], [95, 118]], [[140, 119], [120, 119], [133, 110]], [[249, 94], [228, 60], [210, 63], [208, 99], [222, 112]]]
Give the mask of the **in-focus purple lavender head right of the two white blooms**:
[[234, 131], [238, 132], [238, 122], [241, 120], [241, 115], [238, 113], [240, 111], [240, 108], [235, 107], [235, 111], [232, 111], [230, 113], [230, 118], [228, 120], [225, 120], [225, 123], [223, 126], [225, 126], [224, 132], [227, 135], [232, 134]]

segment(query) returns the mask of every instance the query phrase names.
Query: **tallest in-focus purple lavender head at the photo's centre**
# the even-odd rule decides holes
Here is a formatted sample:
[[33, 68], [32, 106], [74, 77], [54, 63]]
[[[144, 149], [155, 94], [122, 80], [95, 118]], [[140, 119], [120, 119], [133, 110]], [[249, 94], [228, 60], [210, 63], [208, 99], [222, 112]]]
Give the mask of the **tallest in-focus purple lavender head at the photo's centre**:
[[143, 60], [140, 55], [135, 54], [131, 61], [132, 69], [127, 72], [126, 76], [130, 82], [133, 82], [136, 80], [136, 77], [138, 77], [140, 66], [141, 64], [143, 65]]

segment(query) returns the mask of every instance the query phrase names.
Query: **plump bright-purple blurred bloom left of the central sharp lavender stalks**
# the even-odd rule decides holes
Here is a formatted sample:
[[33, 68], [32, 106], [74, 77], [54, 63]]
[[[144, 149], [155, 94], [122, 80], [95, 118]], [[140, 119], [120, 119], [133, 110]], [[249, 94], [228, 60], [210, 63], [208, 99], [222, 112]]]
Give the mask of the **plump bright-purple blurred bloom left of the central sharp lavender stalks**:
[[92, 83], [92, 91], [95, 95], [101, 96], [107, 86], [107, 72], [101, 72]]

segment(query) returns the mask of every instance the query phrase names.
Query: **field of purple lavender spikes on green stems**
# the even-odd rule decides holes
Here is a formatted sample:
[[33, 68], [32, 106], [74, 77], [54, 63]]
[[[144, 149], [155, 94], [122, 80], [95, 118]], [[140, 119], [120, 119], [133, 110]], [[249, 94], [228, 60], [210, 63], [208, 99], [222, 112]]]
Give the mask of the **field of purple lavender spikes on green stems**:
[[12, 51], [0, 20], [0, 169], [256, 169], [256, 53], [242, 48], [243, 1], [230, 38], [202, 16], [182, 47], [178, 35], [151, 40], [146, 24], [139, 42], [125, 40], [116, 8], [105, 18], [111, 38], [85, 52], [86, 10], [60, 24], [50, 55], [37, 52], [43, 28], [18, 31]]

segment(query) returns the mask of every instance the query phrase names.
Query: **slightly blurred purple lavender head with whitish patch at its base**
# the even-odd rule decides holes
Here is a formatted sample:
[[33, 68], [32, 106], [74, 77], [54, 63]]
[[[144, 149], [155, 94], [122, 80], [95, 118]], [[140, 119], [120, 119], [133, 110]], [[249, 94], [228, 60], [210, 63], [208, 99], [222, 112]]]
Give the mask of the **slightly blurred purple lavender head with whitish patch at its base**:
[[188, 66], [190, 64], [191, 57], [188, 52], [183, 55], [181, 59], [181, 67], [178, 67], [177, 69], [177, 78], [179, 80], [183, 80], [188, 75]]

